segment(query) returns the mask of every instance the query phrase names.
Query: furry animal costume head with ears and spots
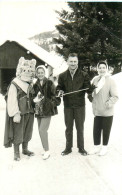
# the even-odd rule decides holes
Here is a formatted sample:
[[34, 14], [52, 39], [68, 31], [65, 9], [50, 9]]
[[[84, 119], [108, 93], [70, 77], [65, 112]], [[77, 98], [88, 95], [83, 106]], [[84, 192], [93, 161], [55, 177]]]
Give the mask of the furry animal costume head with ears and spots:
[[22, 81], [31, 82], [35, 77], [36, 60], [25, 60], [24, 57], [19, 59], [16, 70], [16, 77]]

